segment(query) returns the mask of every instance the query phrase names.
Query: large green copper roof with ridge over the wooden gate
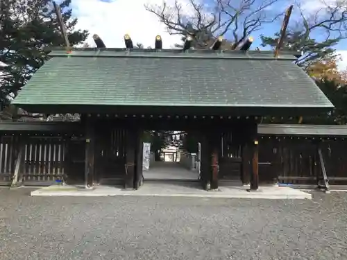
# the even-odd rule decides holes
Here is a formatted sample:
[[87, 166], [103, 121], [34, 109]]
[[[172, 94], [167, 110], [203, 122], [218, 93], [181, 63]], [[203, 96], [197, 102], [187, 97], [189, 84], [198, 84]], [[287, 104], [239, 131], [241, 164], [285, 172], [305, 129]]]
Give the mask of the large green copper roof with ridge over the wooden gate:
[[51, 56], [13, 104], [332, 107], [293, 55], [106, 49]]

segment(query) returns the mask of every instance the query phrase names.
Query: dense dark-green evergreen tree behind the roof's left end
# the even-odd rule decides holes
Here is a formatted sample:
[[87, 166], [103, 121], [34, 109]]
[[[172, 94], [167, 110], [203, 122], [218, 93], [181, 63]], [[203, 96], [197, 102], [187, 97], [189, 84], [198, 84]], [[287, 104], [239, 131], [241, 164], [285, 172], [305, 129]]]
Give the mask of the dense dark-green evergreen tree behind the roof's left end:
[[[77, 19], [71, 17], [71, 0], [62, 1], [62, 19], [72, 46], [85, 41], [87, 31], [76, 31]], [[0, 3], [0, 101], [9, 103], [47, 60], [45, 48], [64, 46], [56, 14], [50, 0], [5, 0]], [[1, 74], [1, 73], [0, 73]]]

